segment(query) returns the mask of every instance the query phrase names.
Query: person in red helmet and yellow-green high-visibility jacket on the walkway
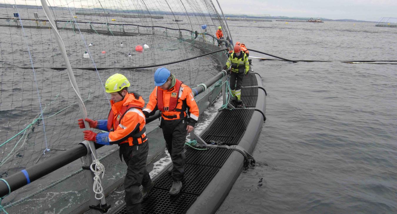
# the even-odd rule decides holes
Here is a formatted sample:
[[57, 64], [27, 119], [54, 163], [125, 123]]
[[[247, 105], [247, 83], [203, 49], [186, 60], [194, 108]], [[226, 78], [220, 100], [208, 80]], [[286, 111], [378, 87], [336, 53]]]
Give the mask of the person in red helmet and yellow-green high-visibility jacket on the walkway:
[[[243, 107], [241, 100], [241, 86], [243, 78], [249, 71], [249, 62], [247, 55], [241, 50], [240, 45], [234, 45], [234, 51], [227, 59], [224, 69], [230, 68], [230, 89], [231, 94], [236, 98], [237, 107]], [[237, 83], [236, 83], [237, 80]]]

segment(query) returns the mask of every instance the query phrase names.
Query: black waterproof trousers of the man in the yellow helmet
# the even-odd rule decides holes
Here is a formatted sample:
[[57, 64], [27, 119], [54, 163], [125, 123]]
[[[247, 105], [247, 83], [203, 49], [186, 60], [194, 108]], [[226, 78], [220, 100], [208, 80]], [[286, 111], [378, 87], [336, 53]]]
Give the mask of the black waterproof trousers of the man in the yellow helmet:
[[129, 146], [128, 143], [120, 145], [120, 154], [123, 155], [127, 164], [127, 174], [124, 179], [124, 190], [127, 214], [141, 214], [142, 193], [139, 189], [150, 185], [150, 176], [146, 170], [146, 159], [149, 151], [149, 140], [146, 142]]

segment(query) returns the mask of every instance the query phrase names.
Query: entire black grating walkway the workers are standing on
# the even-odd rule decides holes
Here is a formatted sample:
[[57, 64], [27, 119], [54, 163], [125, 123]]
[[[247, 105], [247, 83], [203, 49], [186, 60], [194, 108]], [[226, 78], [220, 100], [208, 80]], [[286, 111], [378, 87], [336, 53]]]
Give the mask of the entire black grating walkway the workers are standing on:
[[[243, 79], [243, 86], [257, 85], [254, 73]], [[247, 107], [255, 107], [258, 88], [243, 88], [241, 98]], [[237, 145], [254, 114], [253, 109], [222, 110], [202, 134], [201, 138], [208, 144], [211, 140], [224, 142], [226, 145]], [[208, 150], [185, 150], [185, 174], [182, 180], [181, 193], [172, 197], [169, 190], [172, 178], [167, 170], [163, 170], [153, 181], [154, 188], [148, 198], [142, 202], [143, 214], [183, 214], [186, 213], [198, 195], [208, 186], [218, 173], [232, 150], [208, 148]], [[114, 213], [126, 214], [125, 205]]]

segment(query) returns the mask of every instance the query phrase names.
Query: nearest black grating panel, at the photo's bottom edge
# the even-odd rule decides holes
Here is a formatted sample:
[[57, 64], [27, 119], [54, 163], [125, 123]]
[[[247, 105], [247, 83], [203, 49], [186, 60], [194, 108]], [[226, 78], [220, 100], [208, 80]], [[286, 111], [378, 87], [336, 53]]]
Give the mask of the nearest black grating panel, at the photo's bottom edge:
[[[149, 196], [142, 202], [142, 214], [185, 213], [196, 198], [196, 195], [186, 193], [181, 193], [178, 197], [172, 197], [168, 190], [153, 188]], [[127, 214], [125, 206], [122, 206], [117, 213]]]

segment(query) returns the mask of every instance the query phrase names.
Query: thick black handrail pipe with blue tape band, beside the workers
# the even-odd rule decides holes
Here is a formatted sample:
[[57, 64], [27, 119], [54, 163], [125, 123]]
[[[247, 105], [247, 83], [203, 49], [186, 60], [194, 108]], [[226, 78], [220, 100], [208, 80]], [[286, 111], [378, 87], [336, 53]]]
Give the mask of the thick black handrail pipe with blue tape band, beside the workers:
[[[210, 87], [212, 84], [216, 83], [220, 78], [224, 77], [227, 74], [225, 70], [219, 72], [216, 76], [212, 77], [210, 80], [197, 85], [196, 88], [193, 88], [192, 91], [195, 96], [199, 95], [204, 91], [205, 88]], [[205, 85], [205, 86], [204, 86]], [[160, 116], [160, 112], [157, 111], [156, 114], [146, 119], [146, 123], [150, 123], [156, 120]], [[95, 144], [95, 148], [98, 149], [104, 145]], [[11, 192], [15, 191], [31, 182], [45, 176], [46, 174], [50, 174], [51, 172], [64, 167], [65, 165], [87, 155], [87, 147], [83, 143], [77, 144], [65, 152], [59, 153], [56, 157], [48, 158], [45, 161], [37, 163], [27, 169], [21, 170], [15, 174], [12, 174], [6, 178], [3, 178], [10, 185]], [[0, 181], [0, 197], [4, 197], [8, 195], [9, 190], [5, 182]]]

